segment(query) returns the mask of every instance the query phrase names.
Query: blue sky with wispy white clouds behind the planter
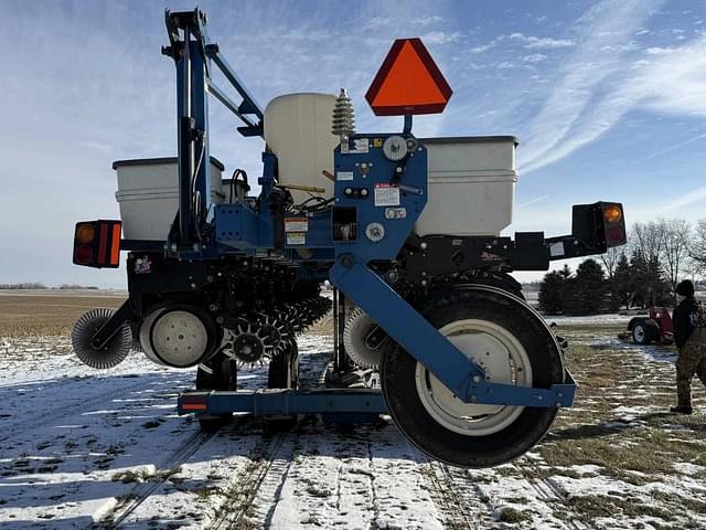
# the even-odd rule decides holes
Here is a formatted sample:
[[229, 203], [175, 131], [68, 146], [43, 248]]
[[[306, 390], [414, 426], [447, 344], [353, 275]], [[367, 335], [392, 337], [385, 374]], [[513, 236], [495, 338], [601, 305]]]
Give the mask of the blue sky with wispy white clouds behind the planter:
[[[393, 40], [420, 36], [453, 96], [415, 134], [520, 139], [507, 234], [569, 233], [571, 204], [597, 200], [623, 202], [629, 224], [706, 218], [703, 0], [200, 6], [261, 106], [345, 87], [365, 132], [400, 129], [363, 96]], [[176, 152], [165, 8], [194, 3], [0, 0], [0, 283], [126, 285], [72, 265], [73, 230], [119, 219], [114, 160]], [[214, 102], [211, 152], [257, 176], [263, 141], [236, 125]]]

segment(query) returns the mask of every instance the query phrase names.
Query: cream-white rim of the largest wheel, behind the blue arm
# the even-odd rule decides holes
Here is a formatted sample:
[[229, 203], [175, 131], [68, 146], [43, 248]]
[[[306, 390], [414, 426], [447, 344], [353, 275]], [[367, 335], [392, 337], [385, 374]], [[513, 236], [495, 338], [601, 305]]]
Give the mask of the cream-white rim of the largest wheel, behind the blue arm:
[[[488, 320], [457, 320], [439, 332], [486, 370], [494, 383], [532, 386], [532, 365], [527, 352], [506, 328]], [[523, 406], [463, 403], [417, 362], [417, 393], [425, 410], [443, 427], [467, 436], [488, 436], [512, 424]]]

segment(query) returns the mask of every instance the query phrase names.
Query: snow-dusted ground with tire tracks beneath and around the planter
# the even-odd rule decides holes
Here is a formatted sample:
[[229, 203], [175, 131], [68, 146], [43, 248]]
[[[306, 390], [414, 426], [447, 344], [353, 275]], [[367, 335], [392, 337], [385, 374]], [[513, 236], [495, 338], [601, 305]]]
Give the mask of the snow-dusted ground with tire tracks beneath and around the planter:
[[[477, 471], [429, 462], [384, 423], [240, 417], [202, 434], [174, 414], [191, 371], [136, 354], [98, 373], [65, 337], [0, 338], [0, 528], [706, 528], [706, 416], [664, 413], [672, 350], [619, 342], [622, 322], [557, 324], [576, 406], [526, 457]], [[303, 379], [330, 349], [301, 337]]]

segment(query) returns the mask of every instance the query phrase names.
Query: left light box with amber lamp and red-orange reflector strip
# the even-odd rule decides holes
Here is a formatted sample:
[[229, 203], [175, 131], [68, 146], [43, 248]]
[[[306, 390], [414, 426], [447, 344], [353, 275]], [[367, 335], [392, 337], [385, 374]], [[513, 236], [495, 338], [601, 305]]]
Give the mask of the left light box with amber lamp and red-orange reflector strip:
[[84, 221], [74, 232], [74, 264], [117, 268], [120, 264], [120, 221]]

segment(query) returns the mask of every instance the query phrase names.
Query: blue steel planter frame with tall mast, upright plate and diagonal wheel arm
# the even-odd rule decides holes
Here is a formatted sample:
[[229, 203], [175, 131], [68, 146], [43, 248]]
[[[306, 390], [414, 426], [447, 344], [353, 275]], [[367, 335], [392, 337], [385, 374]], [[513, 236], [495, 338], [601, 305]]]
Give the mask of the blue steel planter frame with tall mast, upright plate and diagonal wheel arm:
[[[180, 234], [182, 245], [181, 257], [208, 259], [215, 255], [228, 252], [254, 253], [257, 248], [274, 247], [275, 218], [269, 209], [261, 208], [260, 212], [250, 210], [246, 204], [220, 204], [213, 208], [211, 203], [210, 165], [200, 160], [210, 160], [208, 151], [208, 106], [207, 93], [211, 93], [232, 113], [245, 123], [240, 128], [245, 136], [263, 135], [263, 110], [253, 96], [247, 92], [243, 82], [233, 72], [228, 63], [220, 55], [217, 45], [207, 42], [204, 23], [205, 15], [200, 10], [193, 13], [174, 13], [167, 11], [167, 25], [172, 41], [171, 54], [176, 63], [178, 102], [179, 102], [179, 145], [180, 145]], [[189, 17], [192, 15], [193, 20]], [[179, 17], [181, 17], [184, 40], [179, 40]], [[183, 23], [184, 17], [186, 22]], [[194, 39], [191, 39], [191, 35]], [[180, 42], [183, 52], [179, 52]], [[226, 80], [243, 97], [243, 103], [236, 105], [210, 76], [210, 62], [213, 61], [224, 73]], [[207, 87], [207, 92], [206, 92]], [[254, 115], [258, 121], [248, 116]], [[406, 124], [409, 120], [406, 120]], [[479, 404], [504, 404], [517, 406], [570, 406], [576, 392], [576, 385], [566, 375], [563, 384], [555, 384], [550, 389], [520, 388], [511, 384], [490, 383], [485, 381], [483, 370], [461, 353], [449, 340], [441, 336], [419, 312], [405, 301], [383, 278], [367, 265], [371, 261], [394, 259], [406, 237], [411, 233], [414, 224], [420, 215], [427, 198], [427, 163], [426, 149], [419, 146], [400, 166], [389, 162], [383, 156], [382, 149], [374, 148], [374, 144], [382, 145], [382, 140], [391, 135], [359, 135], [352, 142], [367, 142], [367, 149], [360, 152], [341, 152], [336, 148], [334, 156], [335, 172], [335, 206], [349, 206], [356, 211], [357, 234], [354, 241], [334, 241], [332, 235], [332, 218], [330, 212], [309, 216], [310, 231], [307, 234], [306, 248], [312, 248], [314, 257], [332, 263], [330, 279], [332, 284], [366, 311], [395, 341], [400, 343], [417, 361], [421, 362], [440, 381], [451, 389], [464, 402]], [[360, 146], [360, 144], [359, 144]], [[361, 157], [361, 155], [366, 155]], [[372, 161], [373, 170], [359, 171], [360, 161]], [[270, 152], [263, 155], [264, 173], [259, 179], [261, 186], [260, 202], [269, 195], [276, 184], [277, 159]], [[395, 171], [399, 179], [395, 181]], [[345, 174], [345, 179], [341, 178]], [[352, 174], [352, 177], [351, 177]], [[386, 216], [388, 208], [378, 205], [376, 198], [370, 194], [365, 200], [347, 197], [345, 188], [350, 186], [366, 187], [373, 191], [377, 186], [392, 186], [399, 192], [399, 203], [393, 206], [405, 209], [403, 219], [391, 220]], [[194, 220], [194, 195], [197, 198], [197, 210], [202, 216]], [[212, 223], [215, 229], [215, 242], [194, 247], [191, 237], [192, 229], [196, 233], [206, 224]], [[365, 237], [364, 225], [379, 223], [385, 229], [385, 237], [379, 242]], [[175, 230], [172, 229], [172, 234]], [[172, 243], [170, 241], [170, 243]], [[300, 246], [300, 245], [299, 245]], [[296, 253], [298, 245], [286, 245], [285, 255], [292, 259], [301, 259]], [[335, 261], [334, 261], [335, 259]], [[231, 412], [233, 410], [265, 410], [272, 409], [282, 412], [285, 403], [291, 412], [341, 412], [349, 410], [352, 393], [331, 394], [329, 400], [318, 401], [311, 394], [289, 392], [286, 394], [245, 394], [217, 393], [207, 399], [210, 413]], [[367, 393], [366, 393], [367, 395]], [[379, 394], [378, 394], [379, 395]], [[306, 398], [304, 398], [306, 396]], [[280, 402], [278, 400], [285, 400]], [[355, 398], [354, 400], [357, 400]], [[381, 398], [382, 399], [382, 398]], [[325, 403], [335, 403], [330, 409]], [[347, 404], [346, 404], [347, 403]], [[379, 405], [379, 402], [376, 402]], [[182, 410], [180, 401], [180, 410]], [[368, 407], [370, 409], [370, 407]], [[371, 412], [363, 407], [362, 411]], [[378, 406], [379, 409], [379, 406]], [[353, 412], [353, 411], [351, 411]], [[360, 412], [357, 409], [355, 412]]]

